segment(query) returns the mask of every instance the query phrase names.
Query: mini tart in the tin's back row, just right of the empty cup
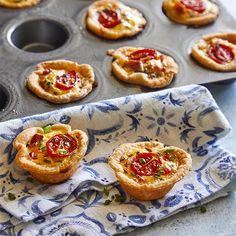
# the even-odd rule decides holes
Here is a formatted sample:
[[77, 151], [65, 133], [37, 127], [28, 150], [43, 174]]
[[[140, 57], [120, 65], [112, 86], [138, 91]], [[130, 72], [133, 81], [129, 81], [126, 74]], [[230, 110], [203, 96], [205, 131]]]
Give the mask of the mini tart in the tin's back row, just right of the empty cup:
[[138, 10], [116, 0], [95, 1], [87, 11], [87, 28], [107, 39], [132, 37], [145, 25], [146, 20]]

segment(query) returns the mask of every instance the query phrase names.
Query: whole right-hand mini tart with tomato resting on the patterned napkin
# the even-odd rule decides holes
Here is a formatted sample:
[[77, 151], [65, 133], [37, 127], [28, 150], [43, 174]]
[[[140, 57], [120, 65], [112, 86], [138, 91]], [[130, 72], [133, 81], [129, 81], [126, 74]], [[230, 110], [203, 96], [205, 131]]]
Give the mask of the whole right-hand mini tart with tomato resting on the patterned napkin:
[[122, 188], [139, 200], [165, 196], [190, 170], [191, 156], [159, 142], [126, 143], [109, 157]]

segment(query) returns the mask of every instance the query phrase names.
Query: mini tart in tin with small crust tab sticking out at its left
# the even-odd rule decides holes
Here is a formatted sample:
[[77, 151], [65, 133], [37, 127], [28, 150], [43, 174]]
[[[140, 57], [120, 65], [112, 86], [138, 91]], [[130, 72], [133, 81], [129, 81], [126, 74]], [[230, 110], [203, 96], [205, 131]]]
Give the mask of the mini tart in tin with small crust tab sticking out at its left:
[[178, 73], [178, 65], [173, 58], [152, 48], [121, 47], [110, 49], [113, 56], [112, 72], [127, 83], [150, 88], [169, 85]]

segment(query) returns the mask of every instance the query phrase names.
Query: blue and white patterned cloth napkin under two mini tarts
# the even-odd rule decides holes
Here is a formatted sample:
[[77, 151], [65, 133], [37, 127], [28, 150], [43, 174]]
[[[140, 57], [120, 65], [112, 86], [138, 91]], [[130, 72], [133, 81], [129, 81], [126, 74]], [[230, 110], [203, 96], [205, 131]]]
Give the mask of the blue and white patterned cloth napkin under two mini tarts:
[[[16, 167], [11, 142], [26, 127], [55, 122], [87, 132], [88, 151], [70, 180], [42, 185]], [[5, 229], [7, 235], [110, 235], [209, 201], [236, 177], [236, 157], [216, 145], [229, 131], [211, 94], [198, 85], [1, 123], [0, 230]], [[193, 169], [164, 198], [142, 202], [122, 190], [107, 157], [121, 143], [146, 140], [187, 150], [193, 157]], [[104, 187], [109, 195], [103, 193]], [[16, 199], [9, 200], [9, 193]]]

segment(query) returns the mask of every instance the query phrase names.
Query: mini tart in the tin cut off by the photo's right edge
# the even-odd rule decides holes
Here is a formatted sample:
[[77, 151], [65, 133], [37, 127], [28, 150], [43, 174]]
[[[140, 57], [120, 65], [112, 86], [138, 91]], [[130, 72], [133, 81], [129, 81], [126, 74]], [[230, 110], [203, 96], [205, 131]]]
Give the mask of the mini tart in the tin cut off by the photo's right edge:
[[192, 48], [192, 56], [208, 69], [236, 71], [236, 33], [217, 33], [202, 37]]

